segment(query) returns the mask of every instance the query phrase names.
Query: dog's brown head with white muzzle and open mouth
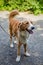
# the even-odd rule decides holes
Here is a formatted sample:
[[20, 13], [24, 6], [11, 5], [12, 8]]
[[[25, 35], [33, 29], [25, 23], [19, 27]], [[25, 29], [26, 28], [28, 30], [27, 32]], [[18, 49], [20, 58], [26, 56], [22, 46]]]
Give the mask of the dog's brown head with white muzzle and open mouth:
[[33, 29], [35, 28], [32, 21], [24, 21], [19, 24], [21, 31], [28, 31], [30, 34], [33, 33]]

